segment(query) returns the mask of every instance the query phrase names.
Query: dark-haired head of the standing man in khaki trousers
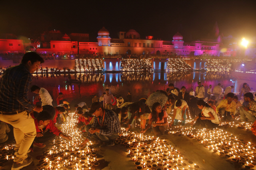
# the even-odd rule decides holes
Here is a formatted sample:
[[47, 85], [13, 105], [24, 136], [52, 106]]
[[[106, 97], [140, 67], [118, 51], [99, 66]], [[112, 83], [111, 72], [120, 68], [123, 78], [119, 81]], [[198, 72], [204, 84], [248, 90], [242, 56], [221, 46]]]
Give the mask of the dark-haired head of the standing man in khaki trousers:
[[30, 73], [33, 73], [40, 64], [44, 63], [44, 59], [35, 52], [28, 52], [22, 57], [21, 63], [26, 66]]

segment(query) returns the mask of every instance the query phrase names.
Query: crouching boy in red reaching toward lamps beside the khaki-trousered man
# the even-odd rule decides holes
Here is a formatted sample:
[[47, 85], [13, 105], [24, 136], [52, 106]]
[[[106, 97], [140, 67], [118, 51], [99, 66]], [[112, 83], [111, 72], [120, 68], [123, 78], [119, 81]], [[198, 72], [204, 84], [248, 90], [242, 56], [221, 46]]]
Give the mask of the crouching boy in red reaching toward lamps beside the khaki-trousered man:
[[34, 119], [36, 125], [36, 137], [34, 139], [33, 146], [44, 148], [46, 145], [43, 143], [54, 139], [56, 136], [63, 137], [67, 140], [72, 140], [72, 137], [64, 135], [51, 120], [51, 115], [48, 111], [42, 111]]

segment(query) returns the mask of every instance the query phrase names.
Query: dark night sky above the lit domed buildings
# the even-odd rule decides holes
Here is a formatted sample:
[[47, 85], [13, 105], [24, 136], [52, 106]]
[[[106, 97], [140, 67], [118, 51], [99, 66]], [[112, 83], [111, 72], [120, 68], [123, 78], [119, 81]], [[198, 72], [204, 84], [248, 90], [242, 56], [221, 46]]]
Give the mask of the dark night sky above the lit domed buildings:
[[135, 29], [142, 39], [153, 35], [170, 41], [179, 31], [190, 42], [209, 37], [216, 21], [224, 36], [256, 36], [256, 0], [2, 0], [0, 6], [0, 33], [30, 39], [56, 29], [67, 34], [89, 33], [90, 41], [96, 41], [104, 26], [111, 38], [118, 38], [118, 31]]

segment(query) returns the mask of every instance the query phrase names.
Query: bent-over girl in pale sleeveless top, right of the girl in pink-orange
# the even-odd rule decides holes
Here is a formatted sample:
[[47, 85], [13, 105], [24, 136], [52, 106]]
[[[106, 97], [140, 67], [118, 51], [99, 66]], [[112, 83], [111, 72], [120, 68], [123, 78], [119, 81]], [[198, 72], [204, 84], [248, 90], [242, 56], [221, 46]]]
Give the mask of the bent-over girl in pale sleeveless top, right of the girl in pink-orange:
[[172, 117], [172, 121], [170, 125], [174, 122], [174, 126], [178, 125], [178, 121], [182, 120], [182, 126], [186, 123], [186, 108], [188, 107], [187, 102], [185, 100], [176, 100], [174, 104], [174, 114]]

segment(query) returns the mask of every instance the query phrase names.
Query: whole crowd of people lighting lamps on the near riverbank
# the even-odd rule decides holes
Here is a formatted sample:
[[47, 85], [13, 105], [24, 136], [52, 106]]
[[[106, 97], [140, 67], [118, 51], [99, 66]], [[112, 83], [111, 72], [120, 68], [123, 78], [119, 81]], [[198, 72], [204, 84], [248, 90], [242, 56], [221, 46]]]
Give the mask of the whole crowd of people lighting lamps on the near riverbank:
[[[233, 86], [226, 87], [225, 91], [221, 84], [213, 91], [210, 86], [206, 94], [201, 82], [198, 82], [195, 92], [191, 89], [189, 93], [185, 86], [180, 90], [170, 83], [166, 90], [157, 90], [138, 101], [132, 99], [130, 91], [124, 100], [122, 94], [116, 96], [106, 89], [100, 98], [94, 95], [91, 106], [80, 102], [74, 107], [60, 92], [56, 99], [58, 105], [53, 106], [48, 90], [34, 84], [31, 86], [32, 73], [43, 62], [38, 54], [26, 53], [21, 64], [8, 68], [0, 80], [0, 141], [8, 141], [8, 127], [13, 127], [16, 156], [12, 170], [31, 164], [32, 158], [27, 155], [31, 148], [44, 148], [46, 141], [56, 136], [72, 140], [57, 128], [71, 116], [72, 109], [78, 115], [74, 128], [87, 134], [80, 147], [91, 140], [95, 141], [95, 147], [113, 146], [121, 135], [121, 126], [128, 131], [136, 128], [136, 121], [140, 121], [141, 133], [152, 131], [154, 136], [161, 136], [168, 127], [179, 125], [180, 121], [184, 126], [186, 119], [191, 118], [194, 127], [209, 129], [218, 127], [222, 120], [233, 121], [239, 115], [241, 121], [256, 120], [256, 102], [246, 83], [237, 96], [232, 93]], [[37, 96], [33, 102], [28, 98], [29, 90]], [[242, 96], [243, 104], [238, 101]], [[151, 131], [148, 131], [150, 127]]]

